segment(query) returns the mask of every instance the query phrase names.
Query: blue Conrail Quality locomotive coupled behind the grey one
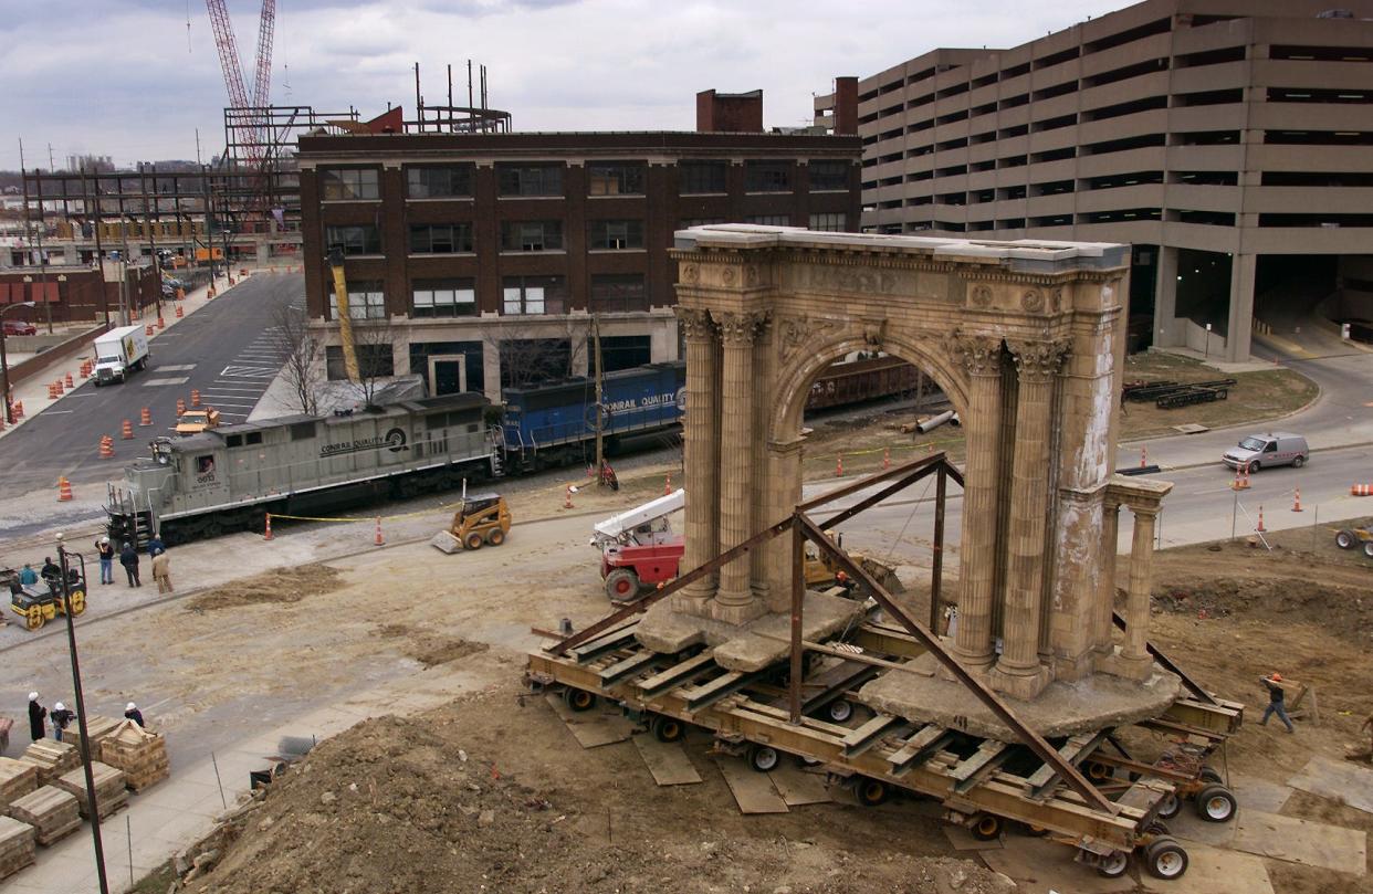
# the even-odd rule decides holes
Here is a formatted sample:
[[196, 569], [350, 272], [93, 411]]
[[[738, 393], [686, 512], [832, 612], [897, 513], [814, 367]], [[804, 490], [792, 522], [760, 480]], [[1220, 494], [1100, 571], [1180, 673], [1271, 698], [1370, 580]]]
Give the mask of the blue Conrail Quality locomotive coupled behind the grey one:
[[623, 438], [671, 428], [681, 423], [685, 385], [684, 361], [610, 372], [599, 411], [592, 379], [505, 389], [501, 433], [507, 461], [526, 471], [581, 461], [596, 438], [597, 412], [610, 452]]

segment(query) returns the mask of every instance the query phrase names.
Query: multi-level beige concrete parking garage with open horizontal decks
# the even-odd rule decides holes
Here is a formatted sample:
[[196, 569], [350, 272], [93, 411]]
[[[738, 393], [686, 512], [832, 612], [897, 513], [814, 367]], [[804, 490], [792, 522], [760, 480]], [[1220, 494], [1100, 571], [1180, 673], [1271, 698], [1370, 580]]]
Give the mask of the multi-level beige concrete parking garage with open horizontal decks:
[[1146, 0], [816, 110], [857, 119], [865, 229], [1134, 243], [1141, 346], [1373, 319], [1370, 0]]

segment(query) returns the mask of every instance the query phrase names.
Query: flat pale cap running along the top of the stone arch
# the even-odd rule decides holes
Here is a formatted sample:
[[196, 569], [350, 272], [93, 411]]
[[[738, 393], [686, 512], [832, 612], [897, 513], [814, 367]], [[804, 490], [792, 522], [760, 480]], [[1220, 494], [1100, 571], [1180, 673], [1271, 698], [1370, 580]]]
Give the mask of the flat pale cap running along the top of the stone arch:
[[1107, 271], [1127, 266], [1130, 246], [1109, 242], [1057, 242], [1016, 239], [949, 239], [943, 236], [891, 236], [879, 233], [817, 232], [802, 227], [759, 224], [710, 224], [678, 229], [677, 249], [851, 249], [881, 254], [916, 254], [946, 261], [998, 262], [1023, 273], [1057, 273], [1072, 269]]

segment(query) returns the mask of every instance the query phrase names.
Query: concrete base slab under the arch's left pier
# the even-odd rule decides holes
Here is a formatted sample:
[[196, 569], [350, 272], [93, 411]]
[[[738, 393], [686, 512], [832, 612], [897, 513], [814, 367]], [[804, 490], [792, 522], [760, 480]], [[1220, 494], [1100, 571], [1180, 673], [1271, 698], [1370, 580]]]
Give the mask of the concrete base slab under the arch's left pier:
[[[806, 593], [802, 637], [833, 636], [862, 614], [862, 604], [851, 599]], [[791, 651], [791, 615], [772, 612], [736, 625], [678, 611], [670, 600], [663, 600], [644, 612], [634, 636], [647, 648], [663, 654], [711, 645], [721, 667], [750, 673], [781, 661]]]

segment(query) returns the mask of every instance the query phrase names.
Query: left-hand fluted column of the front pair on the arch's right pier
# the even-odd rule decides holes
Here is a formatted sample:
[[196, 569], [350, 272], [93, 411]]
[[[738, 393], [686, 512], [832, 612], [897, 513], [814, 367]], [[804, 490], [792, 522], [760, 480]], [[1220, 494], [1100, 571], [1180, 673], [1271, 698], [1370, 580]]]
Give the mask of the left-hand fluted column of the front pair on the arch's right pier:
[[1001, 446], [1001, 338], [957, 335], [954, 353], [968, 371], [968, 438], [958, 560], [958, 632], [954, 651], [968, 667], [991, 665], [991, 603], [997, 563], [997, 488]]

